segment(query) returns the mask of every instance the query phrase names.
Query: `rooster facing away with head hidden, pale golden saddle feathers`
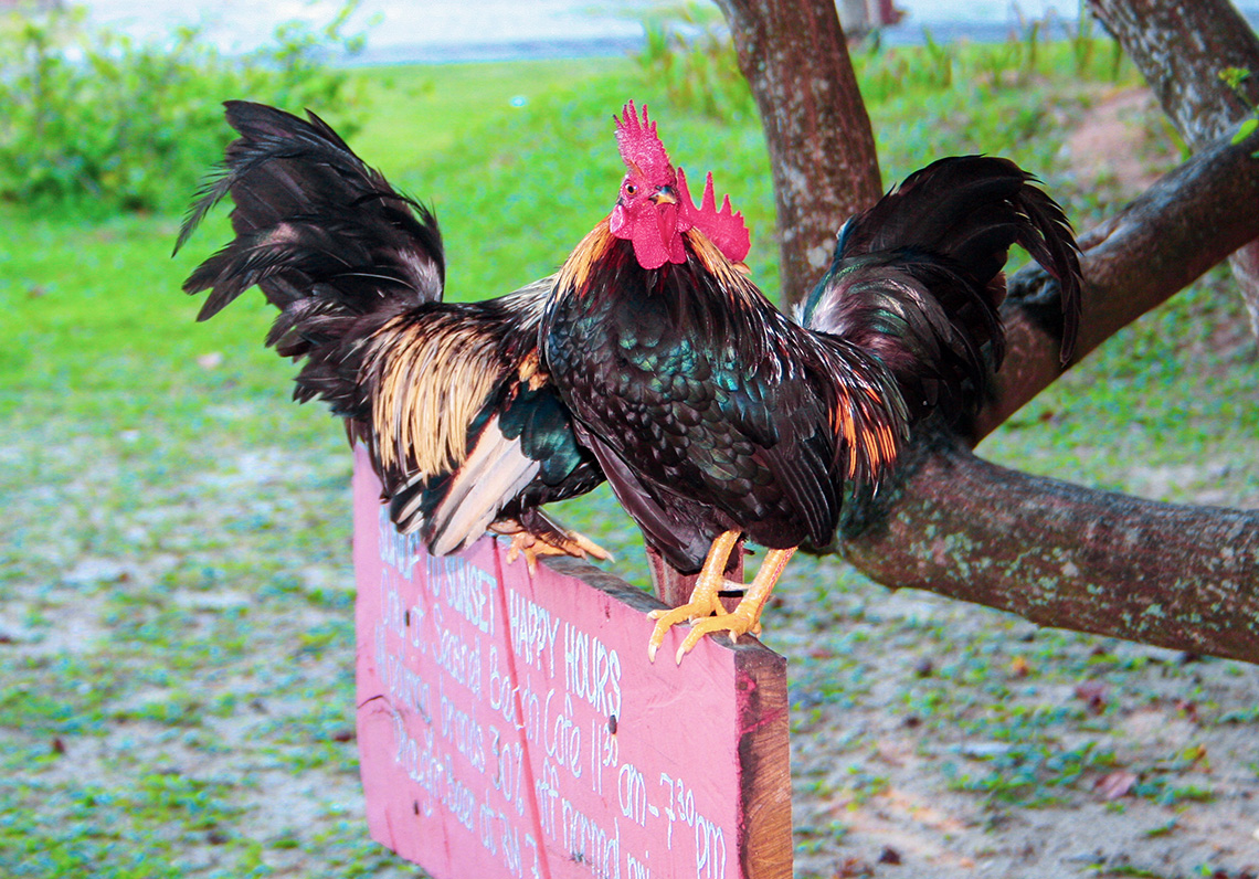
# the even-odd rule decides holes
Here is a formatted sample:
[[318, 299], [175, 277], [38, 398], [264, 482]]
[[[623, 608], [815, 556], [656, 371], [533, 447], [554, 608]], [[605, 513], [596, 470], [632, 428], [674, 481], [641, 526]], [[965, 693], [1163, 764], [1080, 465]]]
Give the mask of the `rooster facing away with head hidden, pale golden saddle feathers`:
[[487, 529], [524, 553], [607, 558], [541, 505], [603, 481], [538, 356], [553, 278], [473, 303], [442, 302], [437, 219], [399, 195], [322, 120], [232, 101], [240, 137], [175, 249], [223, 198], [235, 238], [184, 283], [210, 291], [198, 320], [258, 286], [279, 315], [267, 344], [305, 358], [293, 397], [321, 398], [363, 441], [389, 514], [429, 552]]

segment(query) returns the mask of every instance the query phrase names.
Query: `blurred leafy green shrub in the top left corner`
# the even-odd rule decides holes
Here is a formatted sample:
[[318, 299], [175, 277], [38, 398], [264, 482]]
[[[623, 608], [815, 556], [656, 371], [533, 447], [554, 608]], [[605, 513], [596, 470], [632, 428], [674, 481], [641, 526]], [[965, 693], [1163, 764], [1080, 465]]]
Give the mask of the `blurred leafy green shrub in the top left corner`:
[[91, 26], [82, 8], [0, 16], [0, 199], [92, 215], [184, 207], [232, 137], [224, 99], [295, 112], [347, 102], [346, 74], [324, 59], [361, 47], [344, 33], [355, 6], [319, 30], [283, 24], [243, 57], [190, 28], [137, 42]]

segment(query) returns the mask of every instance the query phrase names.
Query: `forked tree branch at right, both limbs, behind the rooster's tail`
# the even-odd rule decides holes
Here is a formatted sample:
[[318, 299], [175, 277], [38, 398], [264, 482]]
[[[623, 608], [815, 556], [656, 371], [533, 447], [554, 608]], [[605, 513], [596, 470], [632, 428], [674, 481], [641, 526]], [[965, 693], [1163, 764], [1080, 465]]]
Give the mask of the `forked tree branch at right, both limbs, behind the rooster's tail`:
[[[1221, 139], [1081, 237], [1080, 354], [1259, 235], [1256, 145]], [[1011, 291], [1007, 366], [976, 442], [1061, 371], [1055, 282], [1034, 268]], [[841, 545], [871, 579], [1045, 626], [1259, 662], [1259, 513], [1020, 474], [929, 434], [915, 437], [901, 480], [879, 518], [856, 523]]]

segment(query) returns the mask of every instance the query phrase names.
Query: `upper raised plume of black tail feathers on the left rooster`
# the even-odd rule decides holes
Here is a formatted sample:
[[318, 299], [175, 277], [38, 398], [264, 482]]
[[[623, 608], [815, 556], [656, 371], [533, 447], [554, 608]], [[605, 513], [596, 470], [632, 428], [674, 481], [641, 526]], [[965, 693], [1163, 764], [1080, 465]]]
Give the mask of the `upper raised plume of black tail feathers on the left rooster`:
[[277, 307], [295, 297], [331, 297], [354, 314], [392, 298], [441, 298], [446, 263], [432, 212], [399, 195], [322, 120], [273, 107], [227, 102], [240, 137], [198, 194], [180, 229], [179, 251], [225, 196], [237, 238], [184, 283], [210, 290], [205, 320], [257, 285]]

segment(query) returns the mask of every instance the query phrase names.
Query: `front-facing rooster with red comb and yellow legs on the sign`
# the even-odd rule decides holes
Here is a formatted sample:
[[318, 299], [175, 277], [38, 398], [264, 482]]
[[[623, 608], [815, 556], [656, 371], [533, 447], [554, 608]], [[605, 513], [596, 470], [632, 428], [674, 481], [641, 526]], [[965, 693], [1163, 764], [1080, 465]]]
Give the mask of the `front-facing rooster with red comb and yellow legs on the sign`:
[[[914, 421], [973, 398], [983, 349], [1001, 348], [1010, 244], [1058, 278], [1069, 327], [1079, 262], [1061, 210], [1017, 166], [944, 160], [845, 225], [798, 324], [729, 258], [742, 223], [710, 193], [699, 218], [689, 207], [646, 108], [640, 118], [631, 101], [616, 136], [616, 205], [560, 268], [539, 340], [579, 442], [647, 545], [699, 572], [687, 603], [652, 612], [652, 660], [695, 621], [681, 662], [708, 632], [759, 632], [796, 549], [832, 542], [845, 496], [878, 489]], [[726, 612], [719, 592], [743, 588], [724, 577], [743, 538], [767, 552]]]

